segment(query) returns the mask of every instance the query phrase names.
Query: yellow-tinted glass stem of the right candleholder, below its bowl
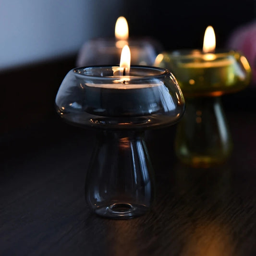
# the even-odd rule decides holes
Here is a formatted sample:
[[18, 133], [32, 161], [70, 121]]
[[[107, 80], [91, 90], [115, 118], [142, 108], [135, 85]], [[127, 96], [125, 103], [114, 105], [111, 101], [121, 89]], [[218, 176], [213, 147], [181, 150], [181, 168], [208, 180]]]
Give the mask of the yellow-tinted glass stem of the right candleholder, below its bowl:
[[175, 151], [183, 163], [203, 168], [223, 163], [230, 156], [232, 138], [220, 97], [186, 98]]

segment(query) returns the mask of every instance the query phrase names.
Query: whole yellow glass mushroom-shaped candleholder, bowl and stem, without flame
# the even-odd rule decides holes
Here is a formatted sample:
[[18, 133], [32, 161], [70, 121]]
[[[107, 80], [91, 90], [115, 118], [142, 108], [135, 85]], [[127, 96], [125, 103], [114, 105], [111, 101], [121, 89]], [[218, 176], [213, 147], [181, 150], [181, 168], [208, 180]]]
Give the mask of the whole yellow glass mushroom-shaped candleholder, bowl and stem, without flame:
[[233, 145], [221, 96], [249, 84], [251, 68], [246, 58], [236, 51], [180, 50], [159, 54], [155, 66], [175, 75], [186, 100], [175, 137], [177, 157], [193, 167], [225, 162]]

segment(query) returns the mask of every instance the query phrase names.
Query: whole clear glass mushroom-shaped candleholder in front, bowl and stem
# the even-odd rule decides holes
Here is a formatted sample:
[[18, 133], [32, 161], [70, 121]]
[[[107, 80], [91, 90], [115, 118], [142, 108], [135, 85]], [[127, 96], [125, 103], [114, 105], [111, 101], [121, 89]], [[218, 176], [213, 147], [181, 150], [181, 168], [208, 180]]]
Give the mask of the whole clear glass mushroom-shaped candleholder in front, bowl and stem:
[[184, 113], [183, 94], [168, 70], [124, 70], [75, 68], [56, 96], [65, 121], [103, 131], [86, 174], [85, 198], [96, 214], [113, 219], [133, 218], [151, 207], [154, 178], [144, 132], [172, 125]]

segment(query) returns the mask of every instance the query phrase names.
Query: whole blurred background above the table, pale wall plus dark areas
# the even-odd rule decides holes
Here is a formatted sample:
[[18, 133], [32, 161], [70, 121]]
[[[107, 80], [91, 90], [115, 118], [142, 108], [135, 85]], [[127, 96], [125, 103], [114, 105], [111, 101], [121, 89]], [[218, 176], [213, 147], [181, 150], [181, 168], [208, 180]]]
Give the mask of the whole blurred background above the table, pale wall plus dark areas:
[[89, 39], [114, 37], [124, 16], [130, 37], [152, 37], [165, 50], [201, 49], [208, 25], [216, 48], [256, 20], [256, 0], [12, 0], [0, 3], [1, 134], [55, 118], [54, 98]]

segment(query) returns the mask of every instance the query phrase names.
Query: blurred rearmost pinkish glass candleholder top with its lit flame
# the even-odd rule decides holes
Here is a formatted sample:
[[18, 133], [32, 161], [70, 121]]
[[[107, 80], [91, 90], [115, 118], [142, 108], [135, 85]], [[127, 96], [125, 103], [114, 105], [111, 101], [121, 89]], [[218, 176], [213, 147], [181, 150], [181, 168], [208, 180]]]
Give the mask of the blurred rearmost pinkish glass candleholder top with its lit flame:
[[132, 65], [152, 65], [162, 48], [152, 38], [129, 38], [128, 23], [121, 16], [116, 21], [115, 38], [94, 38], [85, 42], [78, 53], [76, 65], [117, 64], [124, 45], [131, 50]]

